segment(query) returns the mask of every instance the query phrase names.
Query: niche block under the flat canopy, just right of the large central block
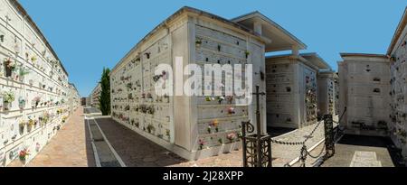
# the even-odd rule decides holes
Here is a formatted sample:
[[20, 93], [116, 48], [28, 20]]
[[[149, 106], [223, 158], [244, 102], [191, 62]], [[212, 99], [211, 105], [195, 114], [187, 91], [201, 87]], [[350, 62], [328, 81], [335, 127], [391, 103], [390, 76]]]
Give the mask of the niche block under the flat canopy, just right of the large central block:
[[269, 126], [299, 128], [317, 123], [317, 71], [297, 57], [267, 59]]

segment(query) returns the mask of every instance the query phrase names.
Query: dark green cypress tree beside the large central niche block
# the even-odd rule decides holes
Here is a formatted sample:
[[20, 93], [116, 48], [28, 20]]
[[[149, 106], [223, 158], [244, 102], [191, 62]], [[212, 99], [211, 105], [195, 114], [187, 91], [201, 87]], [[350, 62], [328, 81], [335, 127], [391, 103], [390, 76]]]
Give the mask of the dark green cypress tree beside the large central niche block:
[[100, 79], [100, 97], [99, 97], [99, 107], [103, 116], [110, 115], [110, 69], [103, 68], [103, 73]]

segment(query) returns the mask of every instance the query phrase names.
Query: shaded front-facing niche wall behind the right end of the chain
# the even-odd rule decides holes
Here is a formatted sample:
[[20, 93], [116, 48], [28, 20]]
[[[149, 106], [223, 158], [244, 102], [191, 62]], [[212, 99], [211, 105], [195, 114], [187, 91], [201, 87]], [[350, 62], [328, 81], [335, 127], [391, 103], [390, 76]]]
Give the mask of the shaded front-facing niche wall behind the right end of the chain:
[[344, 123], [348, 134], [387, 135], [389, 65], [387, 58], [372, 56], [345, 57], [340, 64], [340, 107], [347, 107]]

